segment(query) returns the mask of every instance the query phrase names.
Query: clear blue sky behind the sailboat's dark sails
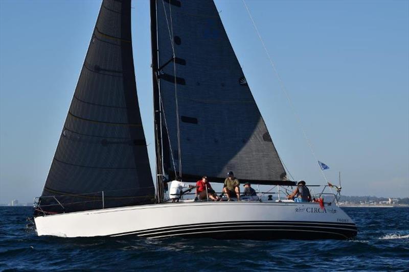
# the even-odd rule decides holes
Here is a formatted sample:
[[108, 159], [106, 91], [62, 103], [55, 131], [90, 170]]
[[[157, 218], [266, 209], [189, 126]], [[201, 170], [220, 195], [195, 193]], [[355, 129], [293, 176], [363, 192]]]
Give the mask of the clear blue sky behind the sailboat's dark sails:
[[[277, 150], [323, 184], [241, 1], [215, 1]], [[317, 158], [346, 195], [409, 196], [409, 2], [247, 5]], [[100, 1], [0, 1], [0, 203], [47, 178]], [[138, 96], [154, 161], [149, 2], [132, 2]], [[153, 167], [152, 167], [153, 169]]]

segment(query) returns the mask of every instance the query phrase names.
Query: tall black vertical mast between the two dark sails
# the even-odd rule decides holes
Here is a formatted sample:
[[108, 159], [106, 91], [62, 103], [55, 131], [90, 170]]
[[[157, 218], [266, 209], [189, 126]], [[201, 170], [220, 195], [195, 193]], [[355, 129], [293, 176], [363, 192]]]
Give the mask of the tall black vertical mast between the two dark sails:
[[156, 151], [156, 202], [162, 202], [163, 190], [163, 151], [162, 151], [162, 120], [161, 120], [161, 93], [158, 86], [158, 47], [156, 24], [156, 0], [150, 0], [150, 33], [152, 47], [152, 83], [153, 83], [153, 114]]

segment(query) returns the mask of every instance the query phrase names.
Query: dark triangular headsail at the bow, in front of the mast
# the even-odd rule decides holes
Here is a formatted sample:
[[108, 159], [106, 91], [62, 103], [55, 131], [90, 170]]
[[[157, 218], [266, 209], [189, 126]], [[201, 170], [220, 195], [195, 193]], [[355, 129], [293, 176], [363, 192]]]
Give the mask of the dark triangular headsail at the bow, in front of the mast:
[[104, 0], [40, 205], [50, 213], [73, 212], [146, 204], [153, 197], [133, 67], [131, 1]]

